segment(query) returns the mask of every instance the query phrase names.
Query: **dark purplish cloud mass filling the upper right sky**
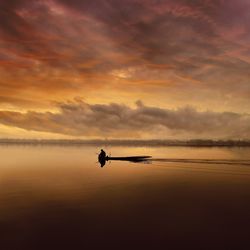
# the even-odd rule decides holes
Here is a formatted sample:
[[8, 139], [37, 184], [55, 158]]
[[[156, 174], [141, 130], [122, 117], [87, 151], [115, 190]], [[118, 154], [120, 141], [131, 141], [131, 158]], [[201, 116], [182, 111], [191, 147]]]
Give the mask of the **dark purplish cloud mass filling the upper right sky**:
[[[246, 10], [250, 9], [244, 0], [237, 3], [221, 0], [57, 2], [101, 23], [118, 53], [136, 55], [130, 64], [144, 64], [148, 70], [157, 65], [169, 65], [172, 66], [168, 67], [169, 71], [190, 78], [195, 78], [198, 68], [212, 65], [214, 71], [220, 70], [217, 65], [228, 60], [223, 58], [225, 53], [235, 49], [239, 42], [238, 37], [225, 39], [224, 33], [230, 33], [238, 24], [247, 24]], [[118, 62], [111, 65], [112, 68], [122, 67]], [[241, 72], [234, 71], [234, 74], [237, 76]], [[204, 74], [204, 78], [206, 76]]]

